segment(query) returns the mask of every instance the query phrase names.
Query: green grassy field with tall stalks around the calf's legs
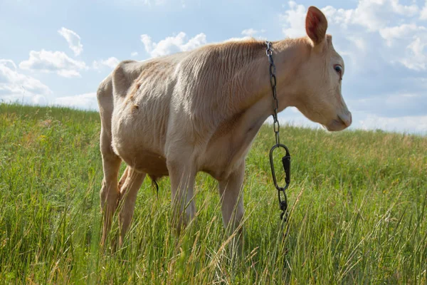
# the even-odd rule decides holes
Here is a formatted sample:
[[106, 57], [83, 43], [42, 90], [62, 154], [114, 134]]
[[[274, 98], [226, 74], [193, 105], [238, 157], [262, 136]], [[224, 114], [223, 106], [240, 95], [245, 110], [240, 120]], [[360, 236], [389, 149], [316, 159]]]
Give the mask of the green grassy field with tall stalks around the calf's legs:
[[102, 252], [99, 133], [95, 112], [0, 105], [1, 284], [427, 282], [426, 137], [283, 127], [294, 206], [283, 239], [264, 126], [246, 163], [243, 253], [231, 259], [204, 174], [194, 227], [174, 234], [169, 179], [158, 197], [147, 179], [125, 247]]

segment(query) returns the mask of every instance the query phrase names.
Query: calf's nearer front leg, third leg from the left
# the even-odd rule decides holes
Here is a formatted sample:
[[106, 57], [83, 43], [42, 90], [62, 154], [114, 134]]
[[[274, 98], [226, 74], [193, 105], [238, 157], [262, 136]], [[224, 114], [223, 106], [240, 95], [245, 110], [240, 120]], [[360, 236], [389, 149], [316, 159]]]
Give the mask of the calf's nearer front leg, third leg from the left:
[[180, 232], [196, 214], [193, 192], [196, 171], [191, 163], [179, 160], [169, 160], [167, 167], [172, 188], [172, 224]]

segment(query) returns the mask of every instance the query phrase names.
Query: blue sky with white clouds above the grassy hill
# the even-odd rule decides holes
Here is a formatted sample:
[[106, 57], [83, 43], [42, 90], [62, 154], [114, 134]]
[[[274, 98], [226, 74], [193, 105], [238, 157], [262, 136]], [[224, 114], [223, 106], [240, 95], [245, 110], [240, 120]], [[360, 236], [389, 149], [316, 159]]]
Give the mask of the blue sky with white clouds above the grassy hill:
[[[426, 134], [426, 0], [1, 0], [0, 100], [97, 108], [97, 85], [119, 61], [305, 36], [310, 5], [345, 61], [351, 128]], [[280, 120], [318, 127], [295, 108]]]

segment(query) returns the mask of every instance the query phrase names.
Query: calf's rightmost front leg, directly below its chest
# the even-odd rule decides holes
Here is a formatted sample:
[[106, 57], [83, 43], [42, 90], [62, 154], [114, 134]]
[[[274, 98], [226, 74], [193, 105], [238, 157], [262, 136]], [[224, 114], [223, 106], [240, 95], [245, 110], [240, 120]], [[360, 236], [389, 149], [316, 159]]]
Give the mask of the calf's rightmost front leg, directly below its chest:
[[[221, 208], [223, 224], [232, 234], [243, 218], [243, 177], [245, 175], [245, 162], [231, 173], [226, 179], [219, 182], [219, 195], [221, 195]], [[242, 229], [237, 232], [238, 239], [242, 239]]]

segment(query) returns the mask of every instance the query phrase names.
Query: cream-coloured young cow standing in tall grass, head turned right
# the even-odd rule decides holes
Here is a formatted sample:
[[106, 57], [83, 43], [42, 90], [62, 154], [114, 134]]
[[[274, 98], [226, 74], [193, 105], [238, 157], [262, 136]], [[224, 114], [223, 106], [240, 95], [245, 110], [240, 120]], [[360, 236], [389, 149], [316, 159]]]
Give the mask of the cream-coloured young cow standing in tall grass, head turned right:
[[[352, 123], [341, 95], [344, 62], [326, 35], [327, 19], [319, 9], [308, 9], [305, 25], [308, 37], [272, 44], [278, 111], [295, 106], [327, 130], [343, 130]], [[119, 202], [122, 244], [146, 175], [169, 175], [179, 228], [196, 212], [196, 173], [209, 173], [219, 182], [223, 224], [236, 229], [243, 217], [245, 158], [273, 113], [265, 49], [261, 41], [236, 41], [123, 61], [100, 83], [102, 244]], [[127, 169], [119, 182], [122, 161]]]

